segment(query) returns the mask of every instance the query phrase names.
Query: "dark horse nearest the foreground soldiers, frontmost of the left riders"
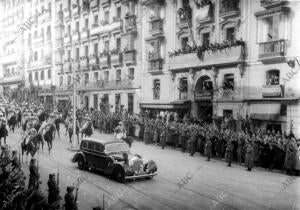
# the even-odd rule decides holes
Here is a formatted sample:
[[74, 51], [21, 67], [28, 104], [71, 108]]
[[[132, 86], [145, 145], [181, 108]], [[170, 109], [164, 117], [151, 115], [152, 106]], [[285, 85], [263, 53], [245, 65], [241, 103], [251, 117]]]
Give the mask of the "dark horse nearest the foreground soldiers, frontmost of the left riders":
[[[26, 143], [26, 140], [28, 142]], [[42, 144], [42, 147], [44, 145], [43, 137], [41, 133], [35, 133], [33, 135], [28, 135], [26, 138], [24, 138], [23, 142], [21, 143], [21, 150], [22, 150], [22, 156], [24, 155], [24, 152], [26, 151], [26, 160], [27, 156], [30, 153], [31, 157], [33, 158], [36, 152], [39, 149], [39, 145]], [[27, 162], [27, 161], [26, 161]]]

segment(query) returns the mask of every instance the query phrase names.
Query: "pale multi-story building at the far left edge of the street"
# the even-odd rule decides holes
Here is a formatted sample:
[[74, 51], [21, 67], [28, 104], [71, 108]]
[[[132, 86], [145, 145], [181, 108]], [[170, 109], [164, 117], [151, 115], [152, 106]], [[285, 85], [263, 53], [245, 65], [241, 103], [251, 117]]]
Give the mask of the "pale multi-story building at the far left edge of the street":
[[24, 87], [24, 40], [20, 30], [23, 8], [23, 0], [4, 0], [0, 4], [0, 94], [19, 100], [24, 95], [19, 91]]

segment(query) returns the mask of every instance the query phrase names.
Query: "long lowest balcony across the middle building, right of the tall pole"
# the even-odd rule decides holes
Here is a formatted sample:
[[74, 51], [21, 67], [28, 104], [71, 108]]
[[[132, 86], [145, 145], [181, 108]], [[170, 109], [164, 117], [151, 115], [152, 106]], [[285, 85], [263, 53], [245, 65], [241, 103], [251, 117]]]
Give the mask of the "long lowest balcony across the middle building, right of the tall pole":
[[131, 80], [112, 80], [104, 81], [98, 80], [89, 82], [87, 84], [81, 84], [79, 90], [81, 91], [92, 91], [92, 90], [122, 90], [130, 89], [133, 87]]

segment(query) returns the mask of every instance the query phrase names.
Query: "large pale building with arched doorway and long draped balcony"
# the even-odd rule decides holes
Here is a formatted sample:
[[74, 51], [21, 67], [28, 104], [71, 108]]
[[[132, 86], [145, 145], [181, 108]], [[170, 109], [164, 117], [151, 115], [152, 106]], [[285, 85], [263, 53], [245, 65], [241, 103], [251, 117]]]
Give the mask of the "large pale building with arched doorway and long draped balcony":
[[143, 110], [189, 111], [207, 120], [248, 116], [263, 129], [293, 126], [300, 134], [300, 30], [292, 27], [299, 2], [141, 4]]

